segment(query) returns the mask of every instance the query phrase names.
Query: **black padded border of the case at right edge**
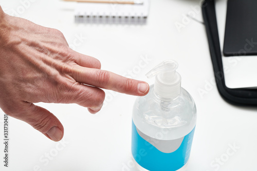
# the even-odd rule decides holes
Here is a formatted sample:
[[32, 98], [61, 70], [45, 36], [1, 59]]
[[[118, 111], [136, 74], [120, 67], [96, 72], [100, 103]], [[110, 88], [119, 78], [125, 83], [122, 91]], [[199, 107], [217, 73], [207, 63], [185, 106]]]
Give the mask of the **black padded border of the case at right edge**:
[[228, 88], [226, 86], [222, 63], [222, 52], [219, 44], [215, 1], [204, 0], [201, 5], [201, 9], [203, 12], [213, 71], [219, 94], [221, 94], [224, 100], [231, 104], [257, 107], [257, 87]]

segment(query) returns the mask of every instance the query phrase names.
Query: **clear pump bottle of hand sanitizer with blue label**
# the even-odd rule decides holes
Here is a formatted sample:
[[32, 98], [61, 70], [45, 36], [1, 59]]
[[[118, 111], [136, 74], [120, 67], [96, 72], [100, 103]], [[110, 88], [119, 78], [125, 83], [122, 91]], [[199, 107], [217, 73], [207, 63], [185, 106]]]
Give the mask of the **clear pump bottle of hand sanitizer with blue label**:
[[139, 170], [185, 169], [196, 124], [196, 107], [181, 88], [174, 61], [164, 61], [146, 74], [155, 76], [149, 93], [138, 97], [132, 116], [132, 155]]

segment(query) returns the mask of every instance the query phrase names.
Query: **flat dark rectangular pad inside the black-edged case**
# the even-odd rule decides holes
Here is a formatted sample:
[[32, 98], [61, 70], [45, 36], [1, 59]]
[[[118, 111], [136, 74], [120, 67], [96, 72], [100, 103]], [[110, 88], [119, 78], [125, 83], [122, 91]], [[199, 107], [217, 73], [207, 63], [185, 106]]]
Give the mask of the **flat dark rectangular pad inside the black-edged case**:
[[257, 55], [257, 0], [228, 0], [223, 53]]

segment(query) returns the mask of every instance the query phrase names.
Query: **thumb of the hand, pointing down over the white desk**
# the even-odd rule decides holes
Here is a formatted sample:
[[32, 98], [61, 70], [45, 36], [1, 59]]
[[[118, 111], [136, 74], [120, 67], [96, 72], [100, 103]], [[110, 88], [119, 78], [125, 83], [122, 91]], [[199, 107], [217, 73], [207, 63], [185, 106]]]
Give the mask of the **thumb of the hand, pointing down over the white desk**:
[[26, 113], [17, 118], [30, 124], [36, 130], [42, 132], [53, 141], [60, 141], [63, 138], [64, 128], [56, 116], [45, 108], [27, 103], [24, 106]]

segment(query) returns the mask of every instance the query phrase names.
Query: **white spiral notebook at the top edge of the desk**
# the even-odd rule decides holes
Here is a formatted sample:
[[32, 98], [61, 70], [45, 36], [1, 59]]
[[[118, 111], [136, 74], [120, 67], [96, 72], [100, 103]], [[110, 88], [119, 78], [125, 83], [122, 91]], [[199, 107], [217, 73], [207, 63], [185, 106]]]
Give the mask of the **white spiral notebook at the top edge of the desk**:
[[75, 9], [76, 23], [94, 24], [146, 24], [149, 0], [142, 5], [78, 3]]

